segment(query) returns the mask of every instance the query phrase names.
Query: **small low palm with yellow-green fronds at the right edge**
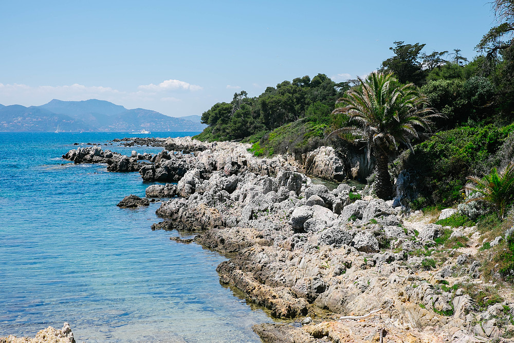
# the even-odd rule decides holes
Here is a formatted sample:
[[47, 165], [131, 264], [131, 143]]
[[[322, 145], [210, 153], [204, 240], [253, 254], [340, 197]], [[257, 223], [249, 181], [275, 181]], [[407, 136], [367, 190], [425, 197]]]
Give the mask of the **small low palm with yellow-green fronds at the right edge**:
[[464, 189], [478, 192], [476, 196], [467, 201], [485, 200], [494, 204], [503, 218], [505, 209], [514, 202], [514, 164], [510, 162], [502, 170], [492, 168], [488, 175], [480, 178], [478, 176], [466, 177], [472, 183], [467, 184]]

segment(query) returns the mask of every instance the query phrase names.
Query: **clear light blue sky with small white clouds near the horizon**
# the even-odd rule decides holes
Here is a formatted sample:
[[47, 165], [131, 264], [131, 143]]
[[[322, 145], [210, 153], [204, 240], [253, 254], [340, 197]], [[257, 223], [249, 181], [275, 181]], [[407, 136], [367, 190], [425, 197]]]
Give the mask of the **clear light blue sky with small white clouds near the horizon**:
[[97, 98], [179, 117], [304, 75], [366, 75], [394, 41], [471, 59], [488, 2], [5, 1], [0, 103]]

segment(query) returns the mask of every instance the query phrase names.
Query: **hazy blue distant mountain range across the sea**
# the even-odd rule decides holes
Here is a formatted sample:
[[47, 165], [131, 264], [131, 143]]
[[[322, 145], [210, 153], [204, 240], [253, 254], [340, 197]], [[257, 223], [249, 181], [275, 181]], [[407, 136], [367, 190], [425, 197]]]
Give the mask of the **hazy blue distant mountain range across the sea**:
[[170, 117], [104, 100], [61, 101], [41, 106], [0, 104], [0, 131], [202, 131], [200, 116]]

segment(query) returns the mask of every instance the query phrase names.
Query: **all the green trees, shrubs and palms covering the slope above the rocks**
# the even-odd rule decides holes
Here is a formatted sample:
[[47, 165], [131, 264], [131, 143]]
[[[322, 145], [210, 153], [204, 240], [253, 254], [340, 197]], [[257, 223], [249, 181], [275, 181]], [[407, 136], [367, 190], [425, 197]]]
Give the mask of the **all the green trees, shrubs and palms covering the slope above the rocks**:
[[[247, 142], [255, 156], [300, 160], [321, 146], [366, 142], [375, 165], [370, 194], [392, 198], [393, 181], [407, 171], [408, 210], [453, 207], [458, 211], [440, 224], [478, 223], [482, 232], [502, 233], [514, 202], [514, 1], [495, 0], [493, 11], [498, 25], [477, 39], [472, 59], [457, 47], [427, 52], [425, 44], [396, 41], [392, 56], [366, 78], [336, 83], [318, 74], [256, 97], [236, 93], [203, 113], [209, 126], [195, 138]], [[492, 269], [507, 280], [514, 275], [512, 237], [493, 257]]]

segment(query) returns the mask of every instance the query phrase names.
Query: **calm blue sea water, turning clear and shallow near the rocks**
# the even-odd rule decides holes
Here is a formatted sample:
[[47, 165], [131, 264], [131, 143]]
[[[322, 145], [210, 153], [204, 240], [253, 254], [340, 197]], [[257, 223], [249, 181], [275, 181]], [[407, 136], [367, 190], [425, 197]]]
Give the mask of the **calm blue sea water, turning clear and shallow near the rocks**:
[[152, 231], [158, 203], [116, 206], [150, 184], [60, 158], [74, 142], [126, 136], [0, 133], [0, 336], [68, 321], [86, 342], [259, 342], [251, 326], [270, 319], [219, 284], [224, 257]]

